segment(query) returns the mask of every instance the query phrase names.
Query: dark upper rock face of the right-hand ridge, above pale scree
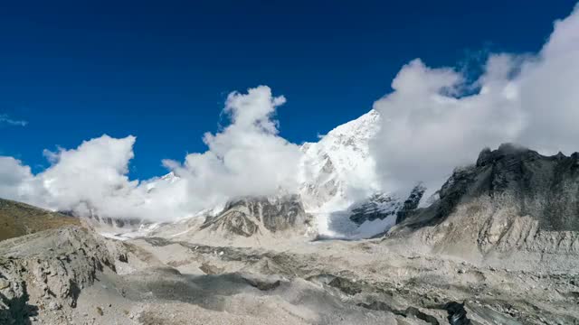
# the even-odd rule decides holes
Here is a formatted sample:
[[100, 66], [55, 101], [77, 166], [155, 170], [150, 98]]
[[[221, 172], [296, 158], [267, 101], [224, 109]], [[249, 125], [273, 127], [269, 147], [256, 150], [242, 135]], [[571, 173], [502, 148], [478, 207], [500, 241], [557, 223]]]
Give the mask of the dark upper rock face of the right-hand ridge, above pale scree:
[[[512, 144], [481, 154], [476, 169], [489, 169], [490, 193], [511, 193], [521, 214], [545, 230], [579, 230], [579, 154], [551, 157]], [[482, 159], [481, 159], [482, 158]]]

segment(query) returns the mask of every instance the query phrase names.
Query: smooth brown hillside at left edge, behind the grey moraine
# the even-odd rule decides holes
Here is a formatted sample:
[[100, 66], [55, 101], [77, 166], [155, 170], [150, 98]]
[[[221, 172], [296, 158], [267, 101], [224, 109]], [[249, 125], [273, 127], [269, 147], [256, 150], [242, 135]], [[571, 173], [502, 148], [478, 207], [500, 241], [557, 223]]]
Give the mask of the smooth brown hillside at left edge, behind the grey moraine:
[[63, 226], [80, 226], [80, 220], [61, 213], [0, 199], [0, 240]]

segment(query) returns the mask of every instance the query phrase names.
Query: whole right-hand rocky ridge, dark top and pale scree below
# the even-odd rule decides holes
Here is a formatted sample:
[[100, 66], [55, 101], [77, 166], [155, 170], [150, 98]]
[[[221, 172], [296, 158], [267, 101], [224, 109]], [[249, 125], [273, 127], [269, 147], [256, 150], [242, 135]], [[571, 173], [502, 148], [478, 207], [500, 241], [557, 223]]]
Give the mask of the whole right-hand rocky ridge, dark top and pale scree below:
[[439, 194], [389, 236], [416, 231], [433, 246], [463, 253], [579, 253], [579, 153], [544, 156], [502, 144], [455, 170]]

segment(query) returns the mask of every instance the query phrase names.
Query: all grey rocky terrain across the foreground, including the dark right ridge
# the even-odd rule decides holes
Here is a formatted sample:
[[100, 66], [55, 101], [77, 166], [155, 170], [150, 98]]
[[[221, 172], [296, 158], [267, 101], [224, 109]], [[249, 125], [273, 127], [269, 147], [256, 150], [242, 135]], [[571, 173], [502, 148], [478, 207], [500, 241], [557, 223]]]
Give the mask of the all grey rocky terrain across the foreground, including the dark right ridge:
[[15, 237], [0, 324], [579, 324], [578, 161], [485, 150], [375, 239], [316, 240], [295, 197]]

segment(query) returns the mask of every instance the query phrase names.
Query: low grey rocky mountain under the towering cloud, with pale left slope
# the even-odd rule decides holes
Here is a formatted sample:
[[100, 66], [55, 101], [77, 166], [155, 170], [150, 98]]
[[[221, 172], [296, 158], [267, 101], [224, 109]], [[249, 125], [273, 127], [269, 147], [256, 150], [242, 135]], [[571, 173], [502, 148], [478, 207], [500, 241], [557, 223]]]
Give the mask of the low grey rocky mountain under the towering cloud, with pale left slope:
[[171, 237], [194, 243], [233, 246], [269, 246], [316, 234], [312, 216], [299, 195], [251, 196], [229, 200], [218, 213], [149, 226], [120, 237]]

